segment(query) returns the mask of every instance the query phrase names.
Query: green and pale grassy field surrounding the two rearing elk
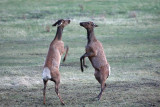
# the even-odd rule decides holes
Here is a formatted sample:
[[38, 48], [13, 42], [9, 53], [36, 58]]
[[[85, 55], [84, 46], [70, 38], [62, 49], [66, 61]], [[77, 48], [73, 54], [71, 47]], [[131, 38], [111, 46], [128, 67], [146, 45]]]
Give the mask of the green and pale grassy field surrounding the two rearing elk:
[[[43, 107], [42, 70], [58, 19], [71, 19], [63, 41], [60, 93], [66, 107], [160, 106], [160, 0], [1, 0], [0, 106]], [[81, 21], [99, 25], [111, 76], [100, 101], [94, 69], [80, 71], [87, 42]], [[49, 82], [46, 106], [61, 106]]]

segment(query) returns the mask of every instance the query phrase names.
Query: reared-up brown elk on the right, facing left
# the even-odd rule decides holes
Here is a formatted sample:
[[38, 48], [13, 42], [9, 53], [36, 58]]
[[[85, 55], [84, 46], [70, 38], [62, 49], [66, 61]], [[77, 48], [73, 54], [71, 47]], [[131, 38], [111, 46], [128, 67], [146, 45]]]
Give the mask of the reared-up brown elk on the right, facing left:
[[94, 35], [94, 27], [98, 27], [93, 22], [81, 22], [80, 26], [87, 30], [88, 43], [86, 45], [86, 53], [81, 56], [81, 71], [83, 72], [83, 66], [85, 65], [85, 57], [88, 57], [92, 66], [95, 69], [94, 76], [97, 81], [101, 84], [101, 91], [97, 96], [98, 100], [101, 99], [102, 93], [106, 88], [106, 79], [110, 75], [110, 65], [107, 62], [103, 46]]

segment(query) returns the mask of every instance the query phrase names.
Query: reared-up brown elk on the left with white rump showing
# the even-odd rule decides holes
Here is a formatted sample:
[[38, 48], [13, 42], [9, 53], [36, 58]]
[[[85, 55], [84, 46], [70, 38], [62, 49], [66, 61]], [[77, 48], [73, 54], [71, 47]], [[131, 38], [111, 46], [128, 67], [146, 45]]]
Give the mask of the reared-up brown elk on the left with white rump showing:
[[60, 85], [60, 73], [59, 73], [59, 66], [61, 61], [61, 56], [64, 52], [66, 52], [63, 62], [66, 59], [68, 53], [68, 47], [64, 48], [64, 43], [62, 41], [62, 32], [66, 25], [70, 23], [70, 20], [58, 20], [53, 26], [57, 25], [57, 33], [54, 40], [51, 42], [48, 55], [44, 64], [43, 69], [43, 82], [44, 82], [44, 89], [43, 89], [43, 103], [46, 103], [46, 86], [48, 80], [55, 82], [55, 92], [58, 95], [61, 103], [64, 105], [64, 102], [58, 92], [59, 85]]

